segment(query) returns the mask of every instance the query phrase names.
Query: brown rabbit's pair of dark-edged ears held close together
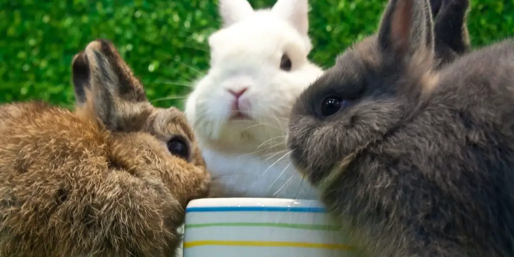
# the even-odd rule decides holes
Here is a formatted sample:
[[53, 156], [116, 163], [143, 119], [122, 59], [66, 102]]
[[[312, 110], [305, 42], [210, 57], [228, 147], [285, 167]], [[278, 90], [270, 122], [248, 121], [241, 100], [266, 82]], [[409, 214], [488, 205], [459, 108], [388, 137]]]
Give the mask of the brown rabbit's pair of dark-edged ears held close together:
[[72, 64], [77, 105], [91, 111], [109, 130], [126, 130], [148, 103], [144, 88], [107, 40], [90, 42]]

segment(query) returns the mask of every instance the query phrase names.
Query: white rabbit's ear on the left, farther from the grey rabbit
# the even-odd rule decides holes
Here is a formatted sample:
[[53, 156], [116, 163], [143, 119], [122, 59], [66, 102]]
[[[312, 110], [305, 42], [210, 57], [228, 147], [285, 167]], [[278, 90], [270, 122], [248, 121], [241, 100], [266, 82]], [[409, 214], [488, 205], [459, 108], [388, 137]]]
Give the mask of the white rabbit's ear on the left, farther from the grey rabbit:
[[219, 0], [219, 15], [223, 27], [228, 27], [253, 13], [253, 8], [247, 0]]

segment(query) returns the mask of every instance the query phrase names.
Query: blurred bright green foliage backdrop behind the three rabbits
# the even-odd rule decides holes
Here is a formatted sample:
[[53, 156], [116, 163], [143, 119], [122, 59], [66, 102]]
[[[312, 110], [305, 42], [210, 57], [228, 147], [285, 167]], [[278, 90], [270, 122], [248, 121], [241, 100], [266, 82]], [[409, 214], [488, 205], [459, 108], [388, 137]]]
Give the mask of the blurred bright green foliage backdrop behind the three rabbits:
[[[250, 0], [254, 8], [276, 0]], [[333, 64], [371, 34], [386, 0], [310, 0], [311, 60]], [[514, 0], [472, 0], [474, 47], [514, 35]], [[208, 69], [217, 1], [0, 0], [0, 102], [43, 99], [72, 106], [70, 62], [96, 38], [111, 40], [158, 106], [178, 105]], [[171, 100], [162, 100], [171, 98]]]

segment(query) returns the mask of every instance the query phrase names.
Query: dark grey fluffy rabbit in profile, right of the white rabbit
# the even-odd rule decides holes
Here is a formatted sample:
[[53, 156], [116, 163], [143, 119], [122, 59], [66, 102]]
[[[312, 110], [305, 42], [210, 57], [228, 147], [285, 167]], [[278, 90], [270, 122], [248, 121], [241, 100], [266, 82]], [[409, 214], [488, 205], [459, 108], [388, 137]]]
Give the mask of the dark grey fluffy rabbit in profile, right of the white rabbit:
[[301, 94], [291, 158], [368, 256], [513, 256], [514, 41], [434, 71], [429, 8], [391, 0]]

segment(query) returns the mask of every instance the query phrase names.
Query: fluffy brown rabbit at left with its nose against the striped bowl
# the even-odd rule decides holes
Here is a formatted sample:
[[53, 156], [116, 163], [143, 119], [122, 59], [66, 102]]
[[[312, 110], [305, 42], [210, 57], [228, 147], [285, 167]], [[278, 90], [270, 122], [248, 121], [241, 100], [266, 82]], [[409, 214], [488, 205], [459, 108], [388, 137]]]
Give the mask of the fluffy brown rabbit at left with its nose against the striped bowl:
[[173, 256], [210, 176], [178, 109], [106, 40], [72, 64], [75, 112], [0, 106], [0, 256]]

